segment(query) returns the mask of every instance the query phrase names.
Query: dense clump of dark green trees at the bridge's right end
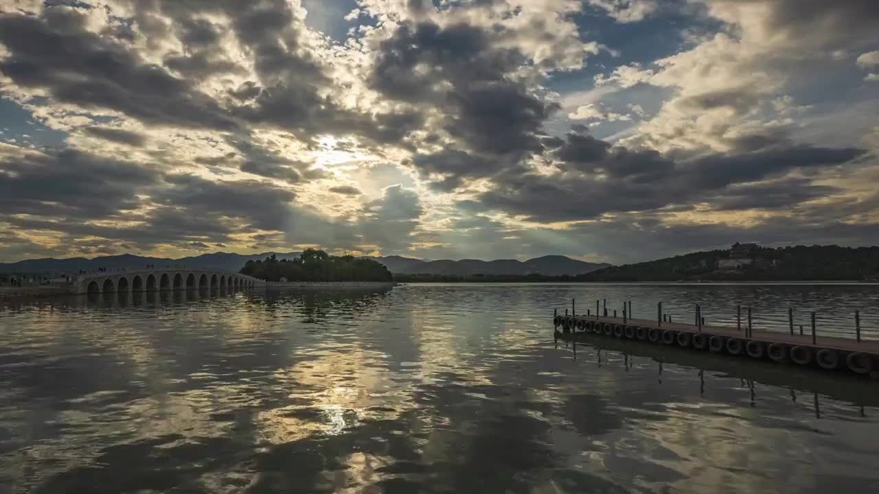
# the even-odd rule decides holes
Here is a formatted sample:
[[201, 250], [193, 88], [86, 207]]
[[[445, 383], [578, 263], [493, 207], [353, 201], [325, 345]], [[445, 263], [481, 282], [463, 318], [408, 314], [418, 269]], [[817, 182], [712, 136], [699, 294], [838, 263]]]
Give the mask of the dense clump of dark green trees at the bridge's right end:
[[367, 258], [331, 256], [324, 251], [306, 249], [300, 258], [247, 261], [242, 274], [267, 281], [391, 281], [384, 265]]

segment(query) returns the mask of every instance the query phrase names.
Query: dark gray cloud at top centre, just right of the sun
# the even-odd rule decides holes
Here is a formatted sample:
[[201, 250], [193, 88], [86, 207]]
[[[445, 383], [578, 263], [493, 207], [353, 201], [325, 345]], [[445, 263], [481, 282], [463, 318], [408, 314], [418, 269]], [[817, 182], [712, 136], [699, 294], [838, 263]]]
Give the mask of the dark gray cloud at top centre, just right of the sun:
[[388, 98], [439, 109], [467, 151], [514, 162], [541, 150], [537, 134], [557, 110], [515, 80], [525, 63], [474, 25], [403, 23], [381, 43], [369, 83]]

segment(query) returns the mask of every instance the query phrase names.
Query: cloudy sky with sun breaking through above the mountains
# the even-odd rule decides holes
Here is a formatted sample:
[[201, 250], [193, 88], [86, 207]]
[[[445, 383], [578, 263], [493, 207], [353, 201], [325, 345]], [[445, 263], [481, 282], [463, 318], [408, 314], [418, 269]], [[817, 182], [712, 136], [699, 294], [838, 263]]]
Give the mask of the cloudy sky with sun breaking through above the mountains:
[[0, 260], [879, 243], [875, 0], [0, 2]]

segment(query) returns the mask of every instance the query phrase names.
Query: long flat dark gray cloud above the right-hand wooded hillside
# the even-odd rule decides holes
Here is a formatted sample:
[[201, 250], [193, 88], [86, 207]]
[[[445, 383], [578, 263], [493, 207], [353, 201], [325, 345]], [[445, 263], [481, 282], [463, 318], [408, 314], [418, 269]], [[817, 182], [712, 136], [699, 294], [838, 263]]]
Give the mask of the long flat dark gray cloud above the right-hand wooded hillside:
[[719, 209], [790, 207], [832, 187], [806, 179], [776, 180], [790, 171], [826, 171], [849, 163], [862, 149], [829, 149], [778, 142], [777, 146], [735, 155], [673, 161], [653, 150], [610, 148], [588, 135], [569, 134], [554, 154], [561, 174], [503, 172], [483, 193], [483, 207], [521, 214], [534, 221], [590, 220], [605, 213], [650, 212], [695, 202]]

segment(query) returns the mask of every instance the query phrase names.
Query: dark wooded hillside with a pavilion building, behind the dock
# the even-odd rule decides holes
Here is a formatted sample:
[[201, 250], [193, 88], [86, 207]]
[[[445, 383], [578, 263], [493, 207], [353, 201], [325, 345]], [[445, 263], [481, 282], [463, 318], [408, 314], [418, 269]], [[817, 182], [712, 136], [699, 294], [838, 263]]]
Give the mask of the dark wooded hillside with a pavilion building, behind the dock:
[[868, 280], [879, 278], [879, 247], [753, 246], [746, 253], [701, 251], [632, 265], [607, 267], [578, 281]]

